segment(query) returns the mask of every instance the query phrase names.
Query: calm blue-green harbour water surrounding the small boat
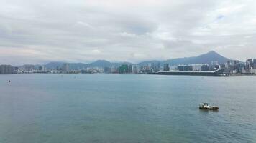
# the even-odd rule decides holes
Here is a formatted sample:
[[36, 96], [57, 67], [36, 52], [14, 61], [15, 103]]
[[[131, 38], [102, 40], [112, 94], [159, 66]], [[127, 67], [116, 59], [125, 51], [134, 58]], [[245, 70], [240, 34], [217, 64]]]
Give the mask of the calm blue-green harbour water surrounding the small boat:
[[255, 143], [256, 77], [0, 75], [0, 142]]

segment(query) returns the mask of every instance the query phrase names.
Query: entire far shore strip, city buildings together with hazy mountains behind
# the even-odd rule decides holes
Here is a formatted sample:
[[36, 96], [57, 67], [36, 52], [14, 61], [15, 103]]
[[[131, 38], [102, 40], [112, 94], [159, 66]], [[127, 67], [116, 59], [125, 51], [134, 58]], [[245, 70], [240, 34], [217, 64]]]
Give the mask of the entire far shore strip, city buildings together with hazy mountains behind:
[[[169, 72], [170, 71], [170, 72]], [[177, 72], [180, 71], [180, 72]], [[185, 71], [185, 73], [184, 73]], [[48, 64], [24, 64], [11, 66], [0, 64], [0, 74], [196, 74], [196, 75], [254, 75], [256, 59], [239, 61], [228, 59], [215, 51], [206, 54], [166, 61], [110, 62], [98, 60], [92, 63], [50, 62]]]

